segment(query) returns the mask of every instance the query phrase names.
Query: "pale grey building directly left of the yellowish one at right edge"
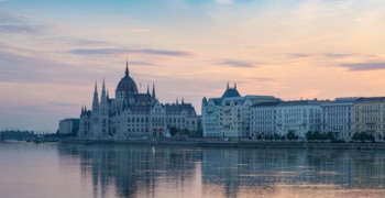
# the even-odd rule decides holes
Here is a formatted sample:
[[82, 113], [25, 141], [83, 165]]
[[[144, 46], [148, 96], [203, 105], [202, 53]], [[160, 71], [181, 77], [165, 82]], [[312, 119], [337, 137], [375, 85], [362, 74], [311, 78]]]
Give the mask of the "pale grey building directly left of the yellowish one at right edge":
[[332, 132], [341, 140], [351, 140], [354, 132], [354, 101], [358, 98], [336, 98], [322, 103], [322, 132]]

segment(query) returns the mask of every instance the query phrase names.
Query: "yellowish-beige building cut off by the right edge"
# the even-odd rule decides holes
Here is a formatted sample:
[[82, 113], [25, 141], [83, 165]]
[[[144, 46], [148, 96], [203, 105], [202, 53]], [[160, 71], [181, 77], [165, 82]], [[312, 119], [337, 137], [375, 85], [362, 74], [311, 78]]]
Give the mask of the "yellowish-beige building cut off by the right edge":
[[385, 97], [359, 98], [354, 102], [354, 132], [367, 132], [376, 140], [385, 135]]

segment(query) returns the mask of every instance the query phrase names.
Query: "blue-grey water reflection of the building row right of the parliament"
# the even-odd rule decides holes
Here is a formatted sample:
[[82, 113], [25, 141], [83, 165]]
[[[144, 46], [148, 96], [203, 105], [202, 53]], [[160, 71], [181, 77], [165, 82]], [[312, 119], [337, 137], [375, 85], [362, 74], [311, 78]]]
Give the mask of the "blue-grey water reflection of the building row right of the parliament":
[[352, 188], [354, 167], [349, 152], [212, 148], [202, 153], [202, 183], [223, 187], [226, 197], [237, 197], [240, 188], [282, 184]]

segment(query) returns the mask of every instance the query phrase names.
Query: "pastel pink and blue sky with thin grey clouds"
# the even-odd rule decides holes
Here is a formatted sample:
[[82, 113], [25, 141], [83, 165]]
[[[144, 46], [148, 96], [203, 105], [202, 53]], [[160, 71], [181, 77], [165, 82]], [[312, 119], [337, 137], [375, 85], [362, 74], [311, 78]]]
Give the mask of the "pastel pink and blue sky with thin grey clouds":
[[0, 0], [0, 130], [55, 132], [124, 76], [163, 103], [385, 96], [383, 0]]

